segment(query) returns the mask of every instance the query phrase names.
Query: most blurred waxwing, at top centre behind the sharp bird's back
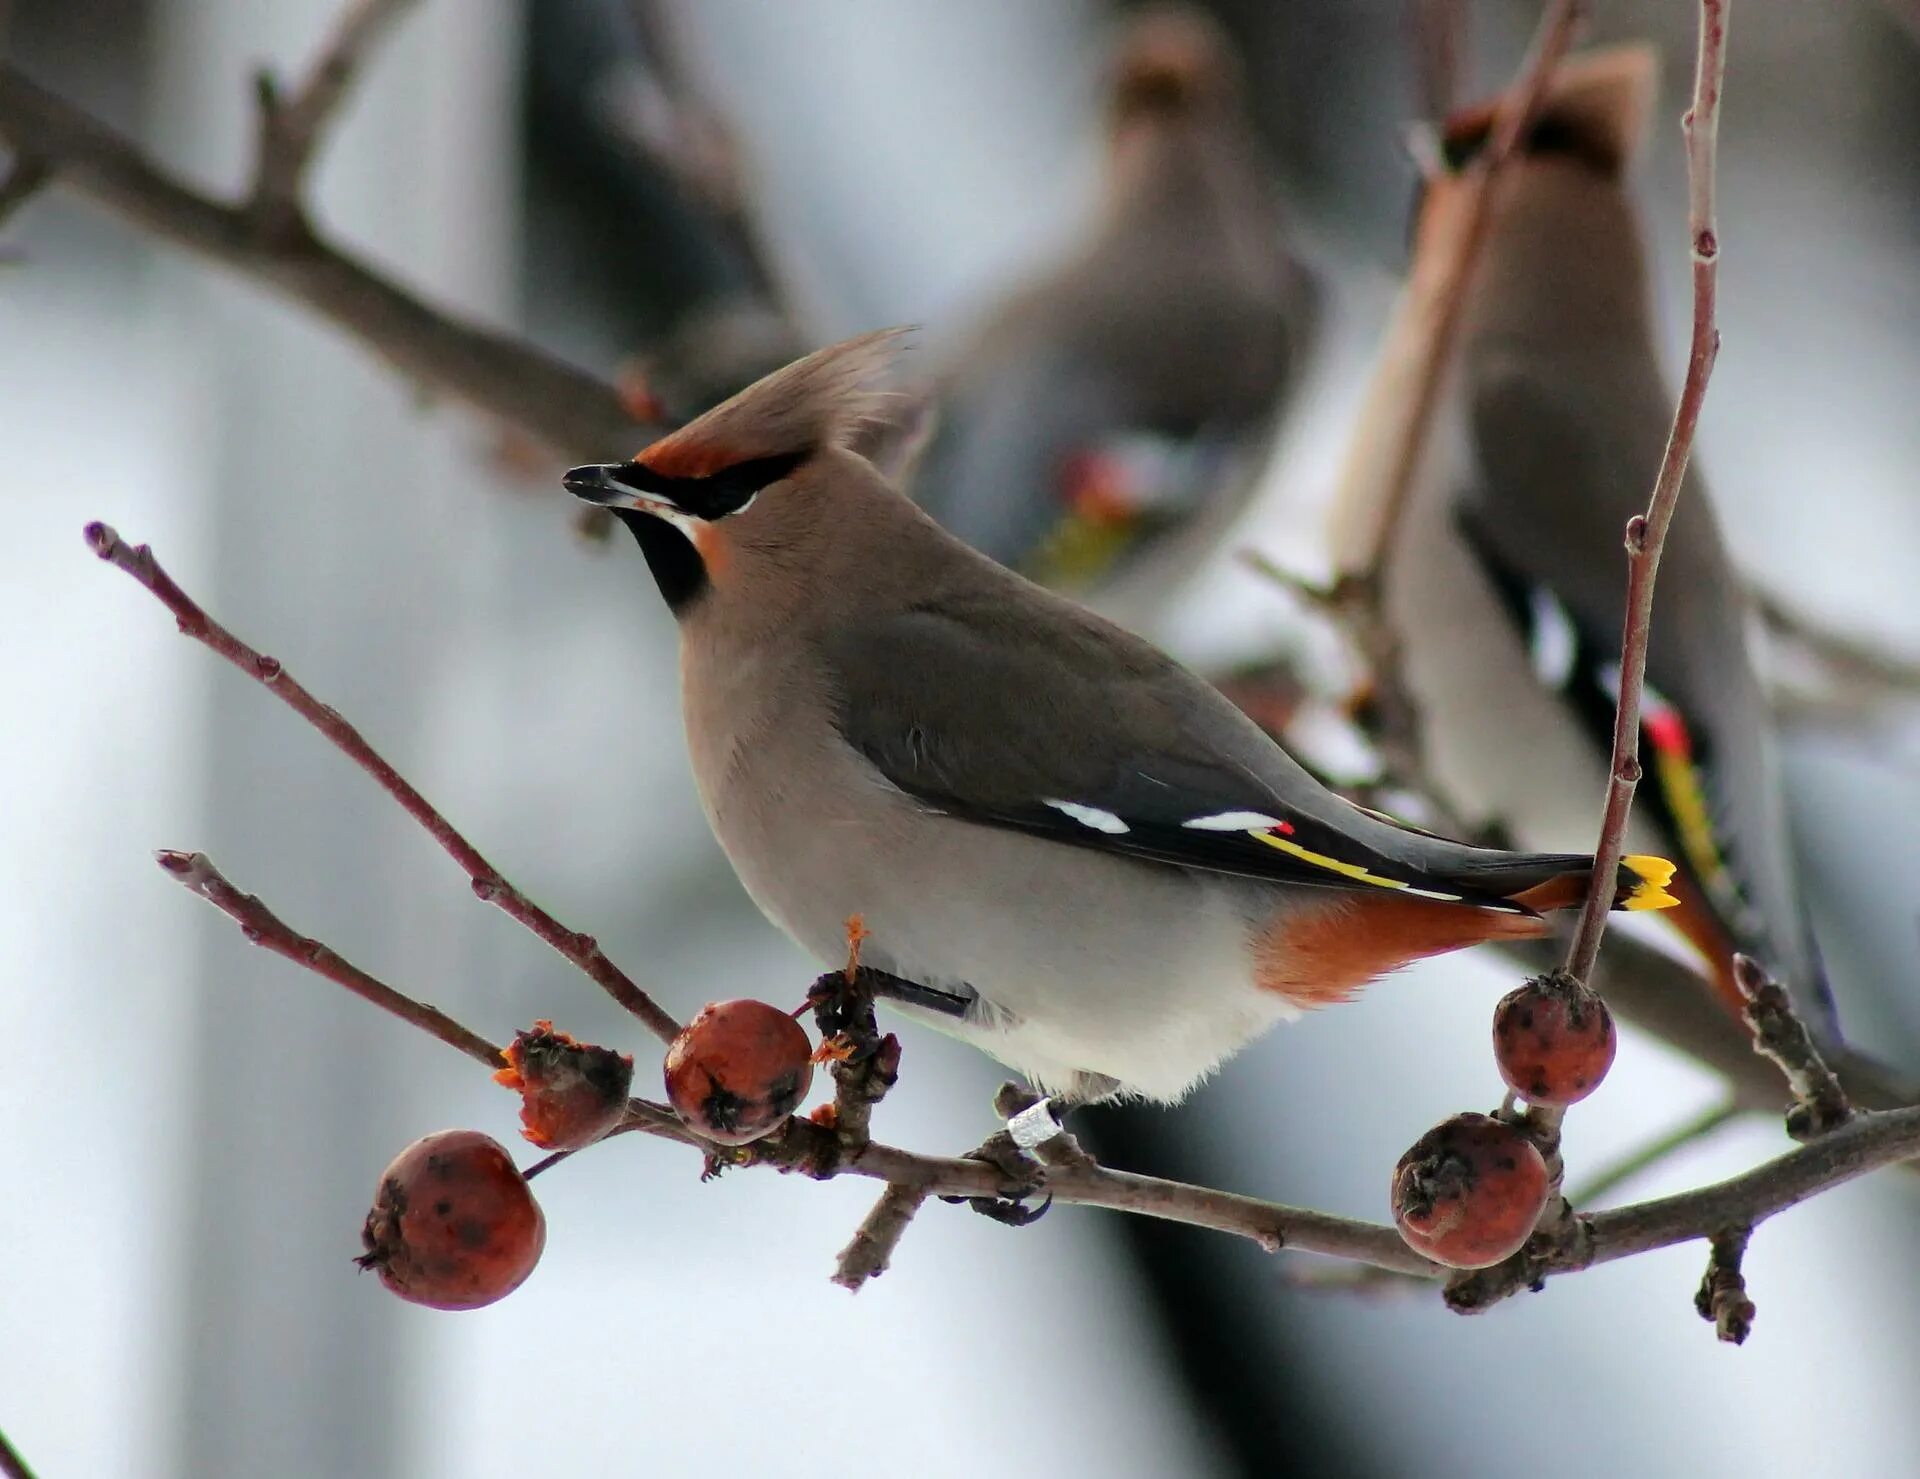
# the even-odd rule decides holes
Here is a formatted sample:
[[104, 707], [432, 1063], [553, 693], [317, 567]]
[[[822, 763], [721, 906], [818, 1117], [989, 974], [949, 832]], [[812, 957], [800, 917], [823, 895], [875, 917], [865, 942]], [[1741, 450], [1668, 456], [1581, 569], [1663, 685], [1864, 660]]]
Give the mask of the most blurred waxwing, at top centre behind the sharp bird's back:
[[1217, 27], [1171, 6], [1133, 21], [1098, 219], [937, 376], [922, 507], [1071, 590], [1142, 563], [1164, 590], [1181, 551], [1204, 553], [1254, 482], [1309, 334], [1313, 284], [1271, 175]]

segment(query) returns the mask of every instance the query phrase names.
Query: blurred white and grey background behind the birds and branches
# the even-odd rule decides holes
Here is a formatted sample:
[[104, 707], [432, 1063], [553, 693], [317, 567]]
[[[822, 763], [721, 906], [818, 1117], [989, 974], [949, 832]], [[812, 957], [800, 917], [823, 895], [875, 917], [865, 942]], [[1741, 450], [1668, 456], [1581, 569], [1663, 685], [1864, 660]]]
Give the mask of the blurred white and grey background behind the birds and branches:
[[[1678, 113], [1693, 8], [1599, 0], [1670, 60], [1644, 196], [1684, 313]], [[536, 106], [591, 0], [428, 0], [363, 79], [321, 219], [434, 300], [611, 369], [701, 257], [574, 227], [591, 175]], [[1404, 8], [1217, 8], [1248, 48], [1296, 213], [1338, 288], [1302, 432], [1244, 538], [1311, 538], [1404, 265]], [[250, 158], [252, 65], [300, 71], [332, 0], [25, 0], [12, 52], [207, 188]], [[1920, 50], [1868, 4], [1736, 6], [1722, 328], [1703, 457], [1770, 584], [1920, 649]], [[588, 15], [582, 21], [582, 13]], [[1092, 0], [684, 0], [689, 75], [739, 129], [774, 257], [833, 338], [935, 344], [1091, 198]], [[1475, 85], [1532, 6], [1476, 4]], [[549, 73], [551, 77], [551, 73]], [[530, 102], [532, 100], [532, 102]], [[699, 1185], [641, 1137], [541, 1183], [545, 1260], [478, 1314], [403, 1306], [348, 1258], [415, 1135], [511, 1137], [513, 1103], [424, 1037], [252, 947], [150, 862], [204, 847], [296, 928], [505, 1035], [551, 1014], [653, 1055], [338, 755], [94, 567], [102, 517], [355, 718], [522, 887], [676, 1010], [797, 995], [808, 966], [732, 884], [680, 751], [666, 613], [632, 551], [584, 547], [557, 486], [422, 407], [336, 332], [61, 198], [0, 271], [0, 1427], [42, 1475], [1910, 1473], [1920, 1289], [1910, 1177], [1768, 1224], [1743, 1350], [1690, 1308], [1699, 1249], [1463, 1321], [1292, 1291], [1275, 1260], [1056, 1210], [1014, 1233], [933, 1206], [858, 1300], [826, 1281], [868, 1185]], [[576, 459], [628, 448], [578, 448]], [[1284, 609], [1204, 582], [1175, 638], [1252, 643]], [[1816, 910], [1859, 1037], [1908, 1066], [1920, 880], [1912, 749], [1793, 749]], [[1428, 1124], [1486, 1106], [1507, 978], [1434, 962], [1275, 1033], [1135, 1160], [1379, 1218]], [[1386, 1049], [1382, 1051], [1382, 1045]], [[1392, 1064], [1392, 1081], [1352, 1064]], [[906, 1039], [887, 1139], [989, 1127], [993, 1064]], [[1569, 1164], [1711, 1103], [1630, 1035]], [[1653, 1193], [1780, 1149], [1695, 1147]], [[1144, 1164], [1144, 1162], [1140, 1162]]]

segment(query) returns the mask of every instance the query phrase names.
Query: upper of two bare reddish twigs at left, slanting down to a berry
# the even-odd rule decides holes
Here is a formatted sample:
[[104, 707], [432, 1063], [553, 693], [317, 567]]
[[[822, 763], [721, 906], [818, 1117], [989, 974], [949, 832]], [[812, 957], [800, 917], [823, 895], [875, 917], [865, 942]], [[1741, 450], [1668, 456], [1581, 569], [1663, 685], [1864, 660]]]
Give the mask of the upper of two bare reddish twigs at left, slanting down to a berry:
[[547, 945], [593, 980], [609, 997], [637, 1016], [660, 1041], [672, 1041], [680, 1033], [680, 1024], [664, 1012], [653, 997], [641, 991], [632, 978], [607, 958], [591, 935], [574, 933], [540, 905], [532, 903], [520, 889], [509, 884], [499, 868], [488, 862], [480, 849], [463, 837], [445, 816], [442, 816], [388, 761], [369, 745], [359, 730], [348, 724], [338, 711], [315, 699], [294, 676], [280, 667], [275, 657], [255, 651], [225, 626], [207, 617], [200, 605], [175, 584], [154, 551], [142, 546], [129, 546], [108, 524], [88, 524], [86, 544], [100, 559], [131, 574], [161, 605], [165, 605], [184, 636], [225, 657], [269, 693], [278, 697], [288, 709], [319, 730], [342, 755], [365, 770], [394, 801], [399, 803], [426, 834], [440, 843], [472, 882], [472, 891], [486, 903], [497, 905], [509, 918], [524, 924]]

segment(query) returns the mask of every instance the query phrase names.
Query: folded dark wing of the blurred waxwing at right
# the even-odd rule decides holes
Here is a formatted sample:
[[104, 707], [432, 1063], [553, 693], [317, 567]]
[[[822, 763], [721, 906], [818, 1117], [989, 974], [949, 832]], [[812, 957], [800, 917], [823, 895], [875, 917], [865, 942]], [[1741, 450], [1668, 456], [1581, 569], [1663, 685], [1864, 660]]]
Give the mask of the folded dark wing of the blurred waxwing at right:
[[[1611, 363], [1601, 376], [1594, 365]], [[1555, 373], [1565, 371], [1565, 373]], [[1486, 357], [1469, 375], [1478, 476], [1457, 517], [1534, 655], [1611, 745], [1626, 611], [1626, 521], [1653, 488], [1670, 415], [1651, 355]], [[1594, 415], [1611, 403], [1617, 415]], [[1832, 1022], [1743, 630], [1743, 594], [1697, 478], [1668, 532], [1647, 655], [1644, 803], [1724, 933]]]

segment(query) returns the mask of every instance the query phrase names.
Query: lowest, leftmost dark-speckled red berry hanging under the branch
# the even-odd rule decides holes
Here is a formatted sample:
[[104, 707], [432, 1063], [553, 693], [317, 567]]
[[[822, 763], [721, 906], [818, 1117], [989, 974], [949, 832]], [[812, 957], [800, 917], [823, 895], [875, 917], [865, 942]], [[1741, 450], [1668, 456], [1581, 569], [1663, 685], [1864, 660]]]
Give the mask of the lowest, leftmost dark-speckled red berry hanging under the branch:
[[547, 1220], [507, 1149], [478, 1129], [417, 1139], [380, 1174], [355, 1262], [411, 1304], [478, 1310], [540, 1262]]

